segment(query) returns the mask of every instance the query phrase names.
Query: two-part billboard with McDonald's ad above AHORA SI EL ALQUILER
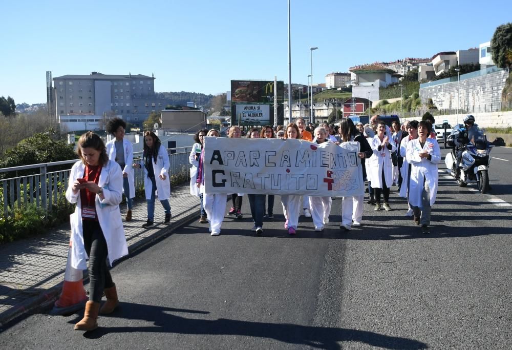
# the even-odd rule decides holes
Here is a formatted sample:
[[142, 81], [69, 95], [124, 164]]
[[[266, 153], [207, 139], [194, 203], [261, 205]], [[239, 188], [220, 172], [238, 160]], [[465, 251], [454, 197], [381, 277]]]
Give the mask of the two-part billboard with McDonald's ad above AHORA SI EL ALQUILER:
[[[273, 80], [231, 80], [231, 125], [264, 126], [274, 123], [274, 89], [278, 123], [283, 123], [284, 83]], [[280, 122], [281, 121], [281, 122]]]

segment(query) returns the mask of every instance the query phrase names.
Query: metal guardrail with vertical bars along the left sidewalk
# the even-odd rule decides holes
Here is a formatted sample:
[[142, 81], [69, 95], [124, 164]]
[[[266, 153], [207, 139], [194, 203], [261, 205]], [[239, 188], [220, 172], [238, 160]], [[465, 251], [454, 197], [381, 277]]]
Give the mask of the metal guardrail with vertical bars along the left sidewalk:
[[[178, 147], [167, 149], [169, 155], [169, 176], [180, 172], [188, 172], [188, 155], [192, 147]], [[142, 152], [134, 153], [134, 161], [142, 158]], [[16, 176], [0, 180], [0, 217], [9, 217], [14, 214], [14, 209], [23, 209], [26, 204], [35, 204], [52, 212], [53, 204], [65, 197], [68, 187], [68, 178], [72, 164], [78, 159], [64, 160], [51, 163], [31, 164], [28, 166], [2, 168], [0, 173], [18, 172], [22, 170], [38, 169], [38, 174]], [[69, 169], [48, 172], [48, 168], [65, 166]], [[135, 169], [135, 188], [144, 186], [144, 171]]]

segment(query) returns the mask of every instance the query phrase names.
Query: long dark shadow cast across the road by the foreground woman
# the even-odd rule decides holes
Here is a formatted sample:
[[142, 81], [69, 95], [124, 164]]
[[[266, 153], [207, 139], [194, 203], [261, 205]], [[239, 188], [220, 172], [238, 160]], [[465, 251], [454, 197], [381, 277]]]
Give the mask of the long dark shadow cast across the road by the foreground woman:
[[[428, 345], [425, 343], [412, 339], [391, 337], [374, 332], [349, 330], [347, 328], [303, 326], [290, 323], [251, 322], [223, 318], [216, 320], [193, 319], [170, 313], [209, 313], [135, 303], [122, 303], [121, 307], [122, 315], [120, 316], [123, 319], [154, 322], [154, 326], [109, 327], [105, 326], [109, 323], [108, 317], [102, 317], [100, 327], [95, 331], [84, 333], [84, 337], [98, 339], [110, 333], [146, 332], [271, 338], [285, 343], [326, 349], [339, 349], [341, 346], [338, 342], [343, 341], [357, 341], [387, 349], [428, 348]], [[121, 313], [121, 310], [118, 313]]]

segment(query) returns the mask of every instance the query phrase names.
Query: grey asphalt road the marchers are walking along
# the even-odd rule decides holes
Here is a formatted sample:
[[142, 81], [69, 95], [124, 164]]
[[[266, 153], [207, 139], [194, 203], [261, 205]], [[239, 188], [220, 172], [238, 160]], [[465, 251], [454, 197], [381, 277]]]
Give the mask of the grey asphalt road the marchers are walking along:
[[[492, 156], [512, 161], [512, 149]], [[0, 348], [509, 349], [510, 165], [493, 159], [486, 195], [439, 168], [430, 235], [393, 191], [393, 210], [365, 204], [359, 229], [339, 230], [334, 199], [323, 233], [302, 217], [289, 237], [276, 197], [262, 237], [249, 215], [226, 216], [219, 237], [194, 222], [115, 266], [121, 305], [98, 330], [73, 331], [78, 314], [36, 314]]]

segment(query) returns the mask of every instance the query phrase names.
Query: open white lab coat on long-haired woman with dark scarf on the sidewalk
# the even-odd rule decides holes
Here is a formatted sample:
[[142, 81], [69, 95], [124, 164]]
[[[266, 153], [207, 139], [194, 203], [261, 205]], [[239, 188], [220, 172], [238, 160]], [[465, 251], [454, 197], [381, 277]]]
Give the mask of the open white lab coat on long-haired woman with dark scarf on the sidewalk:
[[[157, 155], [157, 163], [155, 159], [151, 157], [151, 163], [153, 164], [153, 172], [155, 173], [155, 183], [157, 185], [158, 200], [165, 200], [170, 198], [170, 179], [169, 179], [169, 155], [165, 147], [160, 145]], [[141, 163], [142, 169], [144, 169], [144, 192], [146, 199], [151, 199], [151, 190], [153, 189], [153, 183], [151, 179], [147, 177], [147, 170], [144, 167], [144, 162]], [[165, 175], [165, 180], [160, 179], [159, 175]]]

